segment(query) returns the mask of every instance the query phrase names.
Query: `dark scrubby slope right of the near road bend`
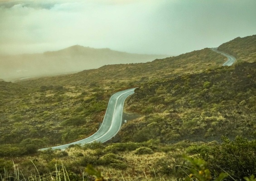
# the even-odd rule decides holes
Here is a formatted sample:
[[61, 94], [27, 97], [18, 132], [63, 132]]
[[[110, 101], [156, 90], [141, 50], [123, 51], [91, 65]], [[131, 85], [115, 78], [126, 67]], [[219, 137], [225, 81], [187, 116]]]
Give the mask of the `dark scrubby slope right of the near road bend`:
[[256, 62], [150, 81], [127, 102], [142, 116], [123, 126], [122, 142], [255, 139]]

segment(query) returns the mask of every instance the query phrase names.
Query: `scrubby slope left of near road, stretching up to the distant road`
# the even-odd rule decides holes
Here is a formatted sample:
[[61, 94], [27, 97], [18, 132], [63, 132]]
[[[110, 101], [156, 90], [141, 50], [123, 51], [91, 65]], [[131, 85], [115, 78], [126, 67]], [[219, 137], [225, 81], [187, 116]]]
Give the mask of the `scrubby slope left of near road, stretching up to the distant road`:
[[9, 125], [0, 128], [0, 143], [19, 144], [33, 138], [50, 146], [85, 138], [97, 130], [108, 99], [116, 91], [219, 67], [224, 60], [206, 48], [153, 62], [108, 65], [66, 76], [8, 83], [21, 88], [15, 96], [4, 97], [0, 105], [4, 110], [0, 122]]

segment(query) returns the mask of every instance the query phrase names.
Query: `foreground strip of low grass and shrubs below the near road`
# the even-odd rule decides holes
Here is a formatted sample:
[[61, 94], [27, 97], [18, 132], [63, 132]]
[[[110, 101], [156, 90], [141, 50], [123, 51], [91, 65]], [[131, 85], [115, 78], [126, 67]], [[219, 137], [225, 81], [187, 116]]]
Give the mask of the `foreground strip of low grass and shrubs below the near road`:
[[[33, 157], [17, 157], [13, 162], [1, 159], [0, 174], [2, 178], [8, 174], [30, 180], [65, 180], [66, 175], [71, 181], [92, 181], [94, 179], [87, 174], [88, 171], [85, 173], [85, 168], [91, 165], [90, 169], [100, 170], [100, 176], [106, 180], [249, 179], [256, 173], [255, 141], [242, 137], [234, 141], [223, 137], [222, 140], [222, 144], [186, 141], [167, 145], [150, 140], [73, 145], [65, 151], [48, 149], [35, 153]], [[22, 171], [22, 174], [17, 175], [17, 171]]]

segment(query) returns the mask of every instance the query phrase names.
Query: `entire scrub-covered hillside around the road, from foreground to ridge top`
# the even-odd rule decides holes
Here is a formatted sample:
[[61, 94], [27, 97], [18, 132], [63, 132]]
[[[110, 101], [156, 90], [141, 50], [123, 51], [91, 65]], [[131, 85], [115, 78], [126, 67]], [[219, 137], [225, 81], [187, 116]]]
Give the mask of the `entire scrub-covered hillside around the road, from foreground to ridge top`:
[[[249, 37], [243, 45], [227, 43], [234, 52], [240, 52], [238, 47], [251, 49], [231, 67], [222, 67], [226, 57], [205, 48], [153, 62], [0, 81], [0, 174], [7, 169], [14, 175], [13, 167], [19, 167], [26, 178], [36, 180], [36, 166], [44, 180], [63, 171], [70, 180], [93, 181], [84, 175], [87, 164], [92, 164], [113, 181], [184, 180], [193, 168], [204, 176], [206, 164], [191, 163], [184, 154], [207, 160], [208, 180], [223, 170], [236, 180], [256, 173], [253, 41]], [[66, 51], [45, 56], [64, 56]], [[96, 132], [110, 96], [131, 87], [138, 88], [126, 100], [127, 123], [108, 143], [37, 151]]]

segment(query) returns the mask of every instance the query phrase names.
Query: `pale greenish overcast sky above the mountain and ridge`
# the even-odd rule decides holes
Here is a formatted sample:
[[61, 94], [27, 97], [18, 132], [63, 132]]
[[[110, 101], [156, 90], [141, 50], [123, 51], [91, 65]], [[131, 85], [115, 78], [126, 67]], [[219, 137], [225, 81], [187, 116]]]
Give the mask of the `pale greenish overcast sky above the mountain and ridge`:
[[256, 0], [0, 0], [0, 53], [179, 55], [256, 34]]

